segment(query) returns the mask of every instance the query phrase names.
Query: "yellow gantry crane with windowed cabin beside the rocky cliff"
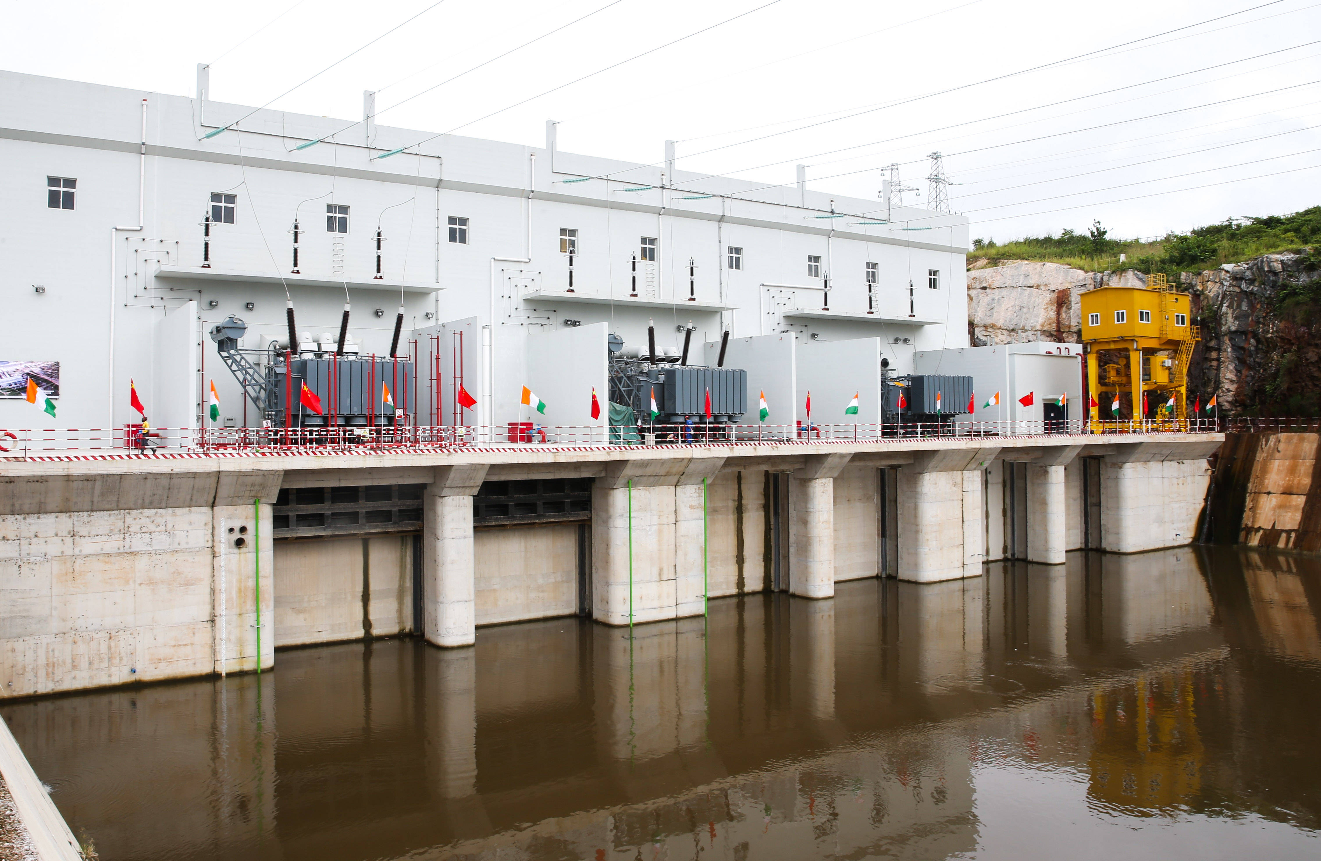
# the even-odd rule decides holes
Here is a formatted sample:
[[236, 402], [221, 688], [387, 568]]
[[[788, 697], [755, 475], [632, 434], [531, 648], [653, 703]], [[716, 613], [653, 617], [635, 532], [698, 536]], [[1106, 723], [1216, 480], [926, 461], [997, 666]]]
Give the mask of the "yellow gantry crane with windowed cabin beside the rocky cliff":
[[[1185, 428], [1188, 363], [1201, 341], [1188, 294], [1157, 273], [1147, 276], [1147, 287], [1100, 287], [1081, 298], [1087, 388], [1096, 400], [1087, 411], [1091, 429], [1127, 430], [1144, 420]], [[1115, 361], [1100, 364], [1103, 353]], [[1123, 405], [1112, 408], [1122, 392], [1129, 394], [1128, 417]], [[1165, 408], [1172, 396], [1173, 412]]]

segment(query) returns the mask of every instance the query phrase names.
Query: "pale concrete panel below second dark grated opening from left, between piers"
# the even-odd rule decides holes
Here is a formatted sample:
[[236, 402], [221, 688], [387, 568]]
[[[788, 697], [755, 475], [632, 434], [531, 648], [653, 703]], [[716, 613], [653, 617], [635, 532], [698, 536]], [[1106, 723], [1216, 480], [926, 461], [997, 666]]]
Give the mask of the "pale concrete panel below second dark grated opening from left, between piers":
[[477, 625], [577, 613], [577, 523], [477, 530]]

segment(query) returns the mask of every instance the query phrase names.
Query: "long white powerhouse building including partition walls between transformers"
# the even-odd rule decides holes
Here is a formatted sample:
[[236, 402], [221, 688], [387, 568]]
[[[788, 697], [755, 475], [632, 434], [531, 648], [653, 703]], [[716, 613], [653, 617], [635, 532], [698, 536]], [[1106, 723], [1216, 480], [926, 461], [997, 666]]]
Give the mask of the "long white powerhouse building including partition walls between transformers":
[[0, 362], [59, 363], [57, 419], [7, 390], [0, 428], [124, 425], [129, 380], [157, 427], [203, 423], [210, 380], [225, 419], [256, 425], [206, 333], [236, 314], [246, 349], [284, 346], [285, 288], [314, 339], [338, 337], [347, 296], [350, 335], [380, 355], [403, 305], [406, 341], [440, 347], [419, 363], [420, 424], [454, 423], [453, 392], [428, 380], [460, 372], [478, 400], [465, 424], [517, 420], [524, 384], [546, 424], [592, 424], [606, 334], [645, 349], [649, 318], [668, 351], [691, 321], [696, 363], [731, 331], [745, 421], [758, 390], [771, 423], [802, 417], [803, 390], [819, 421], [859, 390], [857, 420], [876, 421], [880, 359], [905, 374], [914, 350], [967, 346], [962, 217], [896, 207], [884, 223], [877, 199], [557, 152], [553, 124], [544, 148], [341, 131], [351, 120], [198, 88], [0, 73]]

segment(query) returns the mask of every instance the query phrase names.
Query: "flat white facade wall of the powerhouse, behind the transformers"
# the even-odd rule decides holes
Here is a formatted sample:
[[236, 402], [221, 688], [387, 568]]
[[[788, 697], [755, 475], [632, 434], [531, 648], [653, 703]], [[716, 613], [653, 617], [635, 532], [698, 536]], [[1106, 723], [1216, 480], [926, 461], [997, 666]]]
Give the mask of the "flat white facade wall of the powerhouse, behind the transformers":
[[[145, 224], [141, 231], [112, 235], [112, 226], [137, 223], [144, 99]], [[830, 238], [830, 227], [804, 219], [830, 209], [831, 195], [826, 193], [799, 195], [797, 189], [777, 188], [748, 199], [756, 182], [680, 170], [668, 180], [715, 194], [738, 194], [740, 199], [686, 201], [662, 189], [620, 194], [625, 186], [618, 181], [556, 181], [631, 169], [630, 182], [659, 184], [659, 169], [561, 152], [552, 158], [547, 149], [453, 135], [374, 161], [371, 157], [383, 148], [428, 137], [427, 132], [384, 125], [378, 127], [375, 149], [339, 139], [291, 151], [291, 141], [318, 139], [346, 123], [283, 111], [258, 111], [242, 121], [244, 131], [198, 140], [199, 132], [250, 112], [250, 107], [218, 102], [202, 104], [182, 96], [15, 73], [0, 75], [0, 128], [11, 129], [0, 133], [0, 158], [7, 165], [0, 176], [0, 199], [7, 201], [0, 227], [13, 247], [24, 250], [4, 276], [13, 316], [5, 358], [62, 363], [62, 395], [67, 397], [54, 423], [58, 427], [131, 420], [124, 397], [127, 380], [133, 378], [145, 394], [156, 388], [156, 368], [177, 367], [173, 359], [161, 364], [160, 346], [151, 337], [166, 309], [194, 313], [203, 331], [236, 313], [250, 325], [247, 347], [262, 347], [271, 338], [284, 341], [285, 293], [279, 276], [288, 283], [299, 329], [314, 334], [337, 330], [345, 301], [342, 281], [347, 281], [350, 333], [369, 353], [388, 350], [400, 284], [410, 331], [444, 320], [480, 317], [482, 325], [490, 326], [490, 367], [485, 374], [490, 388], [472, 394], [490, 396], [497, 423], [513, 420], [517, 413], [527, 334], [559, 330], [568, 318], [584, 325], [606, 322], [637, 345], [645, 343], [646, 321], [655, 317], [662, 347], [671, 342], [676, 346], [674, 326], [688, 320], [703, 341], [717, 339], [725, 326], [734, 338], [786, 330], [820, 331], [830, 339], [875, 337], [875, 324], [819, 320], [808, 326], [786, 320], [783, 309], [766, 301], [769, 291], [764, 284], [819, 287], [818, 279], [807, 277], [810, 254], [830, 260], [834, 268], [834, 308], [865, 309], [865, 263], [877, 261], [878, 313], [906, 314], [908, 284], [913, 280], [917, 316], [948, 318], [948, 325], [893, 326], [886, 331], [894, 329], [921, 349], [967, 343], [967, 221], [960, 215], [933, 218], [925, 210], [904, 207], [893, 214], [896, 223], [901, 218], [930, 219], [926, 223], [933, 230], [915, 239], [915, 234], [875, 226], [835, 230]], [[46, 207], [48, 176], [78, 180], [75, 210]], [[238, 189], [235, 223], [213, 227], [211, 268], [202, 269], [199, 221], [209, 195], [229, 189]], [[876, 201], [838, 195], [834, 202], [855, 213], [876, 206]], [[326, 203], [350, 207], [346, 235], [326, 231]], [[469, 219], [466, 244], [448, 242], [445, 222], [450, 215]], [[304, 231], [299, 275], [291, 272], [289, 231], [295, 218]], [[379, 281], [374, 279], [373, 242], [378, 226], [387, 239]], [[528, 293], [563, 291], [567, 260], [559, 252], [561, 227], [579, 230], [577, 298], [613, 298], [613, 305], [572, 297], [524, 298]], [[654, 301], [676, 301], [679, 308], [668, 314], [627, 304], [630, 258], [641, 236], [659, 236], [662, 242], [659, 260], [641, 267], [639, 292]], [[728, 246], [744, 250], [738, 271], [727, 267]], [[527, 263], [493, 264], [493, 258]], [[683, 308], [690, 258], [697, 267], [699, 301], [734, 310]], [[159, 276], [161, 265], [177, 268], [176, 277]], [[939, 291], [925, 287], [929, 268], [942, 273]], [[42, 284], [46, 292], [34, 293], [33, 284]], [[215, 308], [209, 306], [213, 300]], [[190, 301], [199, 302], [197, 312], [188, 310]], [[246, 302], [255, 308], [247, 310]], [[116, 309], [114, 335], [111, 306]], [[379, 318], [374, 316], [378, 308], [384, 312]], [[50, 342], [50, 320], [61, 321], [66, 338]], [[660, 325], [666, 322], [668, 326]], [[218, 362], [209, 339], [201, 345], [201, 354], [198, 363], [213, 370], [198, 372], [198, 399], [214, 379], [223, 415], [242, 419], [239, 388], [227, 371], [214, 370]], [[906, 361], [898, 361], [898, 370], [906, 370]], [[787, 403], [794, 400], [789, 397]], [[147, 405], [149, 413], [161, 413], [161, 404]], [[194, 412], [201, 409], [198, 403]], [[779, 419], [793, 415], [783, 404], [773, 409]], [[0, 425], [28, 427], [30, 419], [21, 401], [0, 403]], [[256, 420], [250, 409], [248, 423]]]

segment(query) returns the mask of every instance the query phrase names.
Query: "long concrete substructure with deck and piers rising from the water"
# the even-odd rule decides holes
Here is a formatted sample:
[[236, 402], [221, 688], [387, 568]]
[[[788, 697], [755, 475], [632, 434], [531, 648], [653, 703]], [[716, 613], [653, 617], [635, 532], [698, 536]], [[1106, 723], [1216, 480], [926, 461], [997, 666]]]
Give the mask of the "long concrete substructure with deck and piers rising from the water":
[[[881, 576], [886, 543], [893, 574], [913, 582], [976, 577], [1007, 556], [1058, 565], [1083, 545], [1085, 508], [1099, 512], [1094, 547], [1178, 547], [1219, 444], [1025, 436], [4, 461], [0, 696], [248, 672], [275, 666], [281, 644], [416, 633], [449, 648], [483, 623], [679, 619], [700, 615], [707, 593], [828, 600], [841, 580]], [[1099, 475], [1086, 499], [1083, 464]], [[581, 493], [565, 497], [565, 482]], [[478, 518], [497, 489], [509, 512], [532, 514]]]

